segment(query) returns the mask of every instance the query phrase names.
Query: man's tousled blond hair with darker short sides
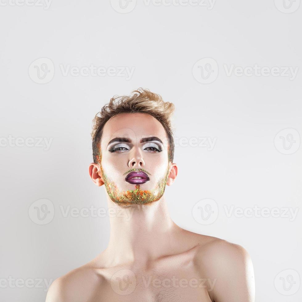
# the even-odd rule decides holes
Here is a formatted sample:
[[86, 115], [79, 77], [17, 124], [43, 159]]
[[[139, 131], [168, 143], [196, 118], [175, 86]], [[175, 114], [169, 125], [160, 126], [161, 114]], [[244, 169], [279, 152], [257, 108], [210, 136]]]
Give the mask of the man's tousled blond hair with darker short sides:
[[97, 163], [97, 155], [100, 152], [100, 142], [103, 128], [106, 122], [119, 113], [147, 113], [156, 118], [164, 127], [168, 137], [169, 161], [174, 157], [174, 136], [171, 125], [174, 104], [164, 102], [159, 94], [150, 92], [149, 89], [138, 88], [129, 96], [113, 96], [109, 103], [104, 105], [100, 112], [92, 120], [92, 153], [93, 161]]

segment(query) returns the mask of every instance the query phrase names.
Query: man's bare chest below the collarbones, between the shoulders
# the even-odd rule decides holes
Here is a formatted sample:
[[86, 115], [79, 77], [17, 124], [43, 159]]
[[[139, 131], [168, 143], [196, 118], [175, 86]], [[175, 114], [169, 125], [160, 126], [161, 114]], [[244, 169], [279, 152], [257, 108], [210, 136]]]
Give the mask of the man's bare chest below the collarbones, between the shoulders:
[[214, 284], [192, 262], [162, 263], [147, 271], [123, 268], [107, 275], [93, 301], [211, 302]]

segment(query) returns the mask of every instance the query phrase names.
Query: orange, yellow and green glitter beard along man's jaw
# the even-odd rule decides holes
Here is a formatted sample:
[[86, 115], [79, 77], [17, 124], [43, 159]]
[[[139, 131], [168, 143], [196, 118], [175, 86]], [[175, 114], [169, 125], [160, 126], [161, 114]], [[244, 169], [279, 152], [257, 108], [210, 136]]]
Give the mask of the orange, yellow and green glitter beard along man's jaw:
[[118, 205], [129, 206], [132, 204], [149, 204], [151, 202], [155, 202], [161, 198], [161, 196], [165, 192], [165, 186], [167, 183], [167, 177], [169, 173], [169, 169], [164, 178], [161, 178], [154, 190], [141, 190], [139, 184], [135, 186], [135, 190], [127, 190], [120, 192], [117, 188], [116, 183], [110, 180], [103, 171], [101, 165], [101, 153], [97, 155], [97, 160], [100, 164], [100, 169], [103, 175], [104, 184], [107, 190], [107, 193], [111, 200]]

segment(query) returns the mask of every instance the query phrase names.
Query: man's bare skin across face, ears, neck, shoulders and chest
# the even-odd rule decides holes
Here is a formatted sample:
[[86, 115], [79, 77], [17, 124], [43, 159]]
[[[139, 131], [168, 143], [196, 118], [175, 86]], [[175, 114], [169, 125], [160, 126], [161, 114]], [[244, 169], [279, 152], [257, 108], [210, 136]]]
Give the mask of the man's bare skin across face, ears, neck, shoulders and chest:
[[[132, 142], [111, 153], [108, 142], [115, 137]], [[149, 148], [155, 142], [140, 143], [143, 137], [160, 138], [162, 151]], [[178, 167], [169, 161], [168, 147], [161, 123], [148, 114], [122, 113], [105, 124], [99, 162], [90, 164], [89, 175], [96, 186], [104, 185], [108, 207], [125, 215], [110, 217], [107, 249], [56, 279], [46, 302], [255, 301], [253, 266], [243, 247], [178, 227], [169, 217], [164, 190], [146, 203], [120, 198], [137, 189], [125, 182], [131, 169], [150, 174], [142, 191], [158, 193], [163, 180], [164, 189], [173, 184]]]

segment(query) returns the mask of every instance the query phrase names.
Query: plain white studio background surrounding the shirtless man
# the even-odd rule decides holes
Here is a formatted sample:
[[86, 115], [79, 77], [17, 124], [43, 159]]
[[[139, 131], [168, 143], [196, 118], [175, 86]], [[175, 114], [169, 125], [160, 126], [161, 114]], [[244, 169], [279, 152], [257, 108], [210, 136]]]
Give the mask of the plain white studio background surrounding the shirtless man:
[[[165, 191], [172, 219], [185, 229], [246, 248], [254, 264], [256, 301], [301, 301], [300, 0], [292, 6], [286, 2], [288, 9], [277, 0], [217, 0], [213, 7], [208, 0], [206, 6], [137, 1], [128, 4], [133, 8], [128, 13], [116, 11], [118, 1], [53, 0], [48, 9], [45, 0], [42, 6], [10, 1], [0, 6], [0, 300], [44, 301], [45, 281], [31, 288], [22, 280], [51, 282], [107, 247], [108, 215], [63, 217], [60, 206], [107, 208], [103, 187], [94, 186], [88, 176], [92, 119], [113, 95], [143, 87], [175, 104], [175, 137], [184, 138], [175, 147], [178, 177]], [[47, 65], [47, 76], [54, 72], [53, 78], [45, 78], [45, 84], [35, 82], [33, 66], [41, 61], [30, 67], [39, 58], [53, 63]], [[200, 83], [203, 66], [194, 67], [203, 58], [217, 63], [211, 66], [210, 76], [217, 76], [212, 83]], [[61, 68], [68, 64], [134, 67], [134, 72], [130, 79], [64, 76]], [[224, 66], [231, 64], [299, 69], [292, 79], [265, 72], [228, 76]], [[283, 129], [290, 130], [278, 134]], [[14, 145], [9, 136], [52, 141], [46, 150], [43, 144]], [[214, 148], [186, 143], [193, 137], [198, 142], [199, 137], [216, 138]], [[198, 176], [191, 177], [192, 172]], [[218, 205], [211, 224], [193, 217], [194, 205], [205, 198]], [[30, 209], [40, 199], [54, 205], [53, 219], [42, 225]], [[227, 217], [225, 206], [232, 205], [298, 208], [298, 213], [293, 221], [271, 214]], [[296, 282], [289, 296], [277, 276], [284, 270], [290, 271], [281, 276], [293, 275]], [[21, 279], [19, 288], [5, 286], [9, 277]]]

